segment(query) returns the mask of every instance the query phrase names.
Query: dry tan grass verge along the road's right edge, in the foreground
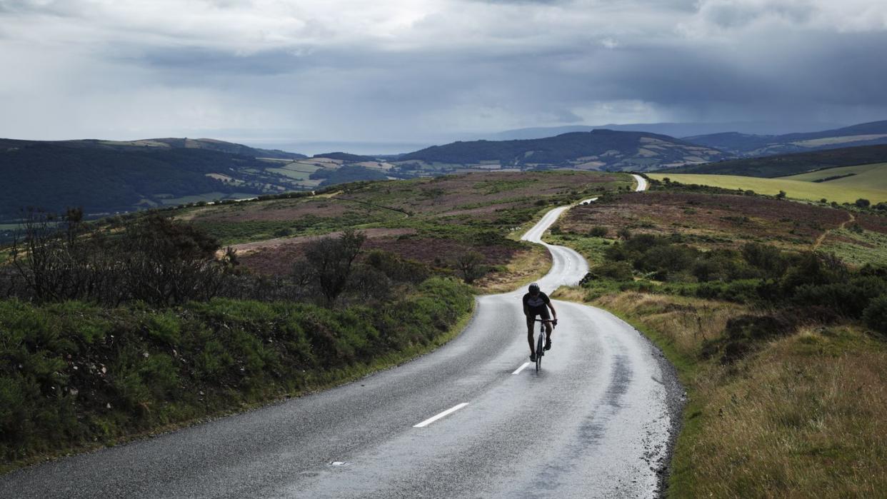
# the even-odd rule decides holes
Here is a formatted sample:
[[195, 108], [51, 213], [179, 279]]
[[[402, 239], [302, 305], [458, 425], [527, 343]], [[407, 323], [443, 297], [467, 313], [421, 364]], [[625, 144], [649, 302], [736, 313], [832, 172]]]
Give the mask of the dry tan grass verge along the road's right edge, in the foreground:
[[[555, 296], [584, 294], [566, 288]], [[643, 331], [687, 388], [670, 496], [877, 496], [887, 487], [883, 339], [853, 324], [805, 325], [725, 363], [706, 346], [731, 319], [759, 312], [642, 292], [587, 303]]]

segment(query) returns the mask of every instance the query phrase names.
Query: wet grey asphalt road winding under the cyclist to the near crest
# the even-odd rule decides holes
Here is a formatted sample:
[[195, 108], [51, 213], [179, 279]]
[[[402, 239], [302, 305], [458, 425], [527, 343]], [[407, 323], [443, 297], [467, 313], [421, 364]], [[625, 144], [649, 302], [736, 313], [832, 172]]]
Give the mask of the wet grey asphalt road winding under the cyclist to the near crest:
[[[539, 237], [557, 208], [524, 237]], [[548, 246], [543, 291], [575, 284]], [[529, 364], [523, 290], [483, 296], [457, 339], [319, 394], [0, 477], [0, 497], [651, 497], [680, 387], [662, 355], [600, 309], [555, 301]]]

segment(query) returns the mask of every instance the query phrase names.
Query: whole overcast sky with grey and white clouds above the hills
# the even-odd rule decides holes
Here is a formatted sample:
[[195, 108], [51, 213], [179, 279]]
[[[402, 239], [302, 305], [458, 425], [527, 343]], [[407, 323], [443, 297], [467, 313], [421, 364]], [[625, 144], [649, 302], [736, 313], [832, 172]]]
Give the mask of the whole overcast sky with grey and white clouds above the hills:
[[887, 119], [885, 50], [885, 0], [0, 0], [0, 136], [855, 123]]

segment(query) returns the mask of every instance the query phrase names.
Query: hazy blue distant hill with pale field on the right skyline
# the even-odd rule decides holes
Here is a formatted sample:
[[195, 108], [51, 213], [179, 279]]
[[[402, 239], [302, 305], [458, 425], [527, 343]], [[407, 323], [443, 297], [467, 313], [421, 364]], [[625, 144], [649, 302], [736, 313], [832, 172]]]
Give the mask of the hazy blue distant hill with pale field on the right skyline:
[[684, 138], [737, 156], [770, 156], [862, 145], [887, 144], [887, 121], [872, 121], [840, 129], [785, 135], [750, 135], [726, 132]]

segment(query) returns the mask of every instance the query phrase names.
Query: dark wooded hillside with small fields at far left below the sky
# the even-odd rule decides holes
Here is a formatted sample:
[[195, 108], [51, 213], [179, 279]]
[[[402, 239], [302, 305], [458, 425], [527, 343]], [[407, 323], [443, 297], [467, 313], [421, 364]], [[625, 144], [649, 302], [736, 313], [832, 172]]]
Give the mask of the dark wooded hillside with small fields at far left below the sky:
[[[364, 162], [337, 173], [349, 160]], [[384, 172], [391, 165], [366, 160], [373, 159], [307, 159], [211, 139], [0, 139], [0, 175], [5, 181], [0, 188], [0, 222], [14, 221], [29, 207], [56, 213], [83, 207], [88, 216], [98, 216], [388, 178]]]

